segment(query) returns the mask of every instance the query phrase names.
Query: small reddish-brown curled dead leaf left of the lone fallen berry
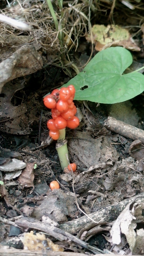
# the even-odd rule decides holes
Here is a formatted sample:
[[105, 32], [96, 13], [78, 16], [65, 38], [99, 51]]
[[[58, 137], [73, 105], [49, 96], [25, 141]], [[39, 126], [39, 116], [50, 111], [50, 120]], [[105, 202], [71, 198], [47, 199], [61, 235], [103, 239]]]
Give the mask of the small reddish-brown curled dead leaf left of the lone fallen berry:
[[20, 174], [18, 181], [19, 181], [20, 185], [22, 185], [23, 187], [26, 187], [26, 188], [33, 187], [33, 189], [34, 189], [33, 180], [35, 178], [35, 175], [34, 175], [34, 165], [35, 164], [36, 163], [28, 163], [27, 167]]

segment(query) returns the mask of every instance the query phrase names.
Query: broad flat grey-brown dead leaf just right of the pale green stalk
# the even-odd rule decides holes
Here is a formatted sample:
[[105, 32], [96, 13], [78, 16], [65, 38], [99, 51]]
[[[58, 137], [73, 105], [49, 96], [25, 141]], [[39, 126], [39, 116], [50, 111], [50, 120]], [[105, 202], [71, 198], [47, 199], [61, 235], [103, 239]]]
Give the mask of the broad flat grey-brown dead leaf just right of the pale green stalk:
[[90, 168], [99, 163], [113, 165], [113, 161], [118, 158], [116, 149], [108, 144], [107, 138], [101, 142], [101, 138], [95, 140], [88, 136], [85, 132], [74, 132], [77, 139], [68, 140], [68, 150], [74, 162], [79, 165]]

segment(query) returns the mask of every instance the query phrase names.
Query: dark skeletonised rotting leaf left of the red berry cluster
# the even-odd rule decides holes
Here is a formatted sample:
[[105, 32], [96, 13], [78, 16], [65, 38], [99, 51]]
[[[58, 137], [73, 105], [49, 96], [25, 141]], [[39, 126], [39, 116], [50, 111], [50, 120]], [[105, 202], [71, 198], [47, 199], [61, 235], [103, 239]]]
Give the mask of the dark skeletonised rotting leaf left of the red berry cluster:
[[18, 81], [14, 84], [11, 81], [4, 85], [2, 90], [4, 97], [0, 97], [0, 130], [3, 132], [18, 135], [29, 134], [32, 131], [29, 126], [38, 119], [36, 110], [39, 108], [39, 103], [36, 104], [36, 100], [18, 106], [11, 104], [14, 93], [23, 87], [24, 85]]

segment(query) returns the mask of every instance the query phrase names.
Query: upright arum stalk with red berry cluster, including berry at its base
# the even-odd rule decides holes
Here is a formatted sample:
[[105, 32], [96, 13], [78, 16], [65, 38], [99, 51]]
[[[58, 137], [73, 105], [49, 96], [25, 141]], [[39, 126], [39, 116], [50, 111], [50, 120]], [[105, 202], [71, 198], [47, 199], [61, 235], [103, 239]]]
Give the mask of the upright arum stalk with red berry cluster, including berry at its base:
[[76, 164], [69, 164], [66, 127], [75, 129], [79, 125], [76, 115], [76, 106], [73, 99], [75, 97], [75, 87], [70, 84], [67, 88], [55, 89], [51, 94], [44, 97], [44, 105], [52, 111], [52, 119], [47, 122], [50, 130], [49, 135], [53, 140], [57, 140], [56, 149], [60, 159], [61, 169], [76, 171]]

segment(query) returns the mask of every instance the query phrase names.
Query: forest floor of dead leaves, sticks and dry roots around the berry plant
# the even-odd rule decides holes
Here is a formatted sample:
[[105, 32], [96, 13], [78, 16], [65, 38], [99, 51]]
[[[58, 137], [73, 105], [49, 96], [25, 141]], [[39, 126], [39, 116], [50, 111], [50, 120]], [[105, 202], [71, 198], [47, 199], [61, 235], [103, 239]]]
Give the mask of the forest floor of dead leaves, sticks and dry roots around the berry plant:
[[[141, 68], [144, 4], [63, 1], [64, 64], [47, 4], [2, 2], [2, 14], [31, 28], [0, 23], [0, 255], [143, 255], [144, 94], [116, 104], [74, 100], [80, 125], [66, 129], [73, 173], [61, 170], [43, 97], [111, 46], [131, 51], [129, 70]], [[53, 180], [60, 189], [50, 189]]]

